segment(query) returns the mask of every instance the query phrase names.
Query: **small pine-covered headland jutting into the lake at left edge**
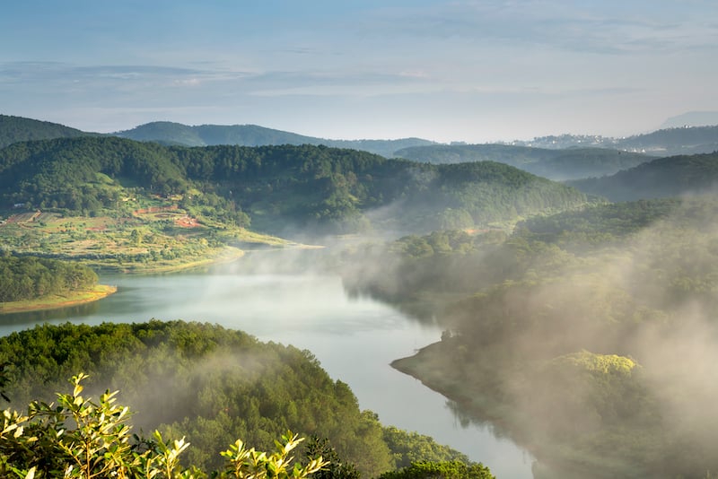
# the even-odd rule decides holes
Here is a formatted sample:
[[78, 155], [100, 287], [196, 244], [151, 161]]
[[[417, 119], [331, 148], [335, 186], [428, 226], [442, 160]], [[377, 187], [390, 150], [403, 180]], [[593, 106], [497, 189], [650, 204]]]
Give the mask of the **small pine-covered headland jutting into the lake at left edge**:
[[87, 266], [39, 257], [0, 257], [0, 302], [67, 294], [97, 283]]

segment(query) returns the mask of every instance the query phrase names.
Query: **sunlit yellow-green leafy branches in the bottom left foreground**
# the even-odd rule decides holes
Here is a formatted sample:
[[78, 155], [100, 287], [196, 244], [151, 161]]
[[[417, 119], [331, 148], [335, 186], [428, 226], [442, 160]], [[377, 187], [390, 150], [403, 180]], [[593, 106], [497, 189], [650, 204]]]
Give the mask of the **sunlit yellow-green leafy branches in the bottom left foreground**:
[[129, 409], [116, 404], [117, 391], [107, 391], [94, 402], [81, 396], [81, 382], [86, 378], [83, 373], [74, 376], [72, 394], [58, 394], [57, 405], [35, 401], [27, 415], [10, 409], [3, 412], [0, 475], [23, 479], [301, 479], [328, 465], [321, 457], [305, 466], [293, 464], [290, 454], [302, 439], [288, 431], [281, 442], [276, 441], [273, 453], [246, 449], [237, 440], [221, 453], [227, 461], [223, 471], [207, 475], [194, 466], [184, 469], [179, 460], [189, 446], [184, 438], [168, 444], [158, 431], [152, 439], [132, 435], [127, 424]]

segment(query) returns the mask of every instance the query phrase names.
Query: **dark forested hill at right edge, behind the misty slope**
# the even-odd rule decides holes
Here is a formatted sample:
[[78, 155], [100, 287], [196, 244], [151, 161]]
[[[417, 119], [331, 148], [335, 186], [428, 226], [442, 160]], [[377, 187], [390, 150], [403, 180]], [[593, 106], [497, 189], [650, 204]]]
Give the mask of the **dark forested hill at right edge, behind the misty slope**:
[[631, 201], [703, 192], [716, 182], [718, 152], [661, 158], [610, 177], [580, 179], [567, 184], [611, 201]]

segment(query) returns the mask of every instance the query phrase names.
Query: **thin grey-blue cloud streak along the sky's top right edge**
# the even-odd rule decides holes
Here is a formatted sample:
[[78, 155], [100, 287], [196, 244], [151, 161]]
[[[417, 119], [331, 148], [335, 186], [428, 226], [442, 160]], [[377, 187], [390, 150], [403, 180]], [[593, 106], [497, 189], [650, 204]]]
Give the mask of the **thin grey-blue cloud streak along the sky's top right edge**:
[[355, 29], [386, 38], [403, 35], [419, 41], [489, 42], [613, 55], [715, 46], [713, 25], [703, 25], [701, 19], [676, 20], [661, 8], [625, 16], [612, 10], [564, 2], [451, 2], [382, 9], [362, 19]]

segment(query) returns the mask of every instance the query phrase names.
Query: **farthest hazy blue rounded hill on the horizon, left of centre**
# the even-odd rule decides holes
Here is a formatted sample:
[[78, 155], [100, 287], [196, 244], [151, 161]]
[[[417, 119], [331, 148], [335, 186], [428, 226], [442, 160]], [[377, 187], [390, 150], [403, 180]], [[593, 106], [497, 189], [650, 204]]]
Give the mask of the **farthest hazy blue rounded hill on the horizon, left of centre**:
[[120, 131], [114, 135], [137, 141], [152, 141], [161, 144], [183, 146], [211, 146], [217, 144], [236, 144], [240, 146], [261, 146], [277, 144], [324, 144], [336, 148], [353, 148], [393, 156], [394, 152], [409, 146], [433, 144], [420, 138], [398, 140], [329, 140], [314, 136], [266, 128], [257, 125], [200, 125], [187, 126], [169, 121], [155, 121], [136, 126], [131, 130]]

